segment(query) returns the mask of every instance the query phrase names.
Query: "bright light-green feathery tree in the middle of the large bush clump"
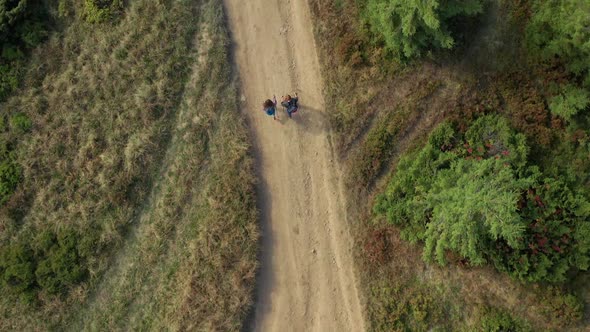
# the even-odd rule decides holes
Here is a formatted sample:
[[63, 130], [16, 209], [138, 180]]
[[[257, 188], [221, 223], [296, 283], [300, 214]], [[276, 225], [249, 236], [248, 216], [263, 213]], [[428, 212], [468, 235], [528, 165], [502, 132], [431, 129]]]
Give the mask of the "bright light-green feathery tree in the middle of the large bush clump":
[[432, 217], [425, 233], [424, 259], [435, 254], [444, 264], [445, 252], [453, 250], [482, 265], [493, 241], [502, 239], [519, 248], [526, 225], [516, 203], [535, 182], [535, 176], [518, 178], [503, 160], [457, 159], [438, 174], [426, 196]]

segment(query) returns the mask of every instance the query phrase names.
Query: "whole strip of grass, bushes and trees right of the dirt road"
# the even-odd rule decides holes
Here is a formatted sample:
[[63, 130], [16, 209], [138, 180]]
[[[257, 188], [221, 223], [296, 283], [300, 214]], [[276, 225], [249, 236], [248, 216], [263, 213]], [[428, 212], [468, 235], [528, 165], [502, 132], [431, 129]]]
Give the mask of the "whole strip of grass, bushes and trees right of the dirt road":
[[370, 330], [588, 329], [587, 1], [311, 4]]

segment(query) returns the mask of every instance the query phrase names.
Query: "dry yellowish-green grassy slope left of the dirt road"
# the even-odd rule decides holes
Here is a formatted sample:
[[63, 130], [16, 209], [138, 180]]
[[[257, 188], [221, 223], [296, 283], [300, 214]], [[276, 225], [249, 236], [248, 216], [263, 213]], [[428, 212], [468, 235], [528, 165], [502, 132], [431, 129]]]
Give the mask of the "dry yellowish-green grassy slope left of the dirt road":
[[240, 329], [258, 233], [224, 24], [216, 1], [134, 1], [114, 26], [75, 20], [35, 55], [6, 103], [34, 130], [2, 238], [75, 227], [104, 250], [66, 297], [3, 297], [1, 330]]

